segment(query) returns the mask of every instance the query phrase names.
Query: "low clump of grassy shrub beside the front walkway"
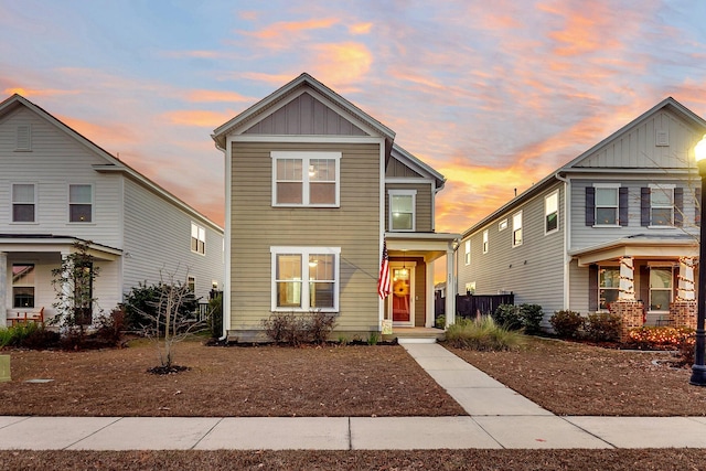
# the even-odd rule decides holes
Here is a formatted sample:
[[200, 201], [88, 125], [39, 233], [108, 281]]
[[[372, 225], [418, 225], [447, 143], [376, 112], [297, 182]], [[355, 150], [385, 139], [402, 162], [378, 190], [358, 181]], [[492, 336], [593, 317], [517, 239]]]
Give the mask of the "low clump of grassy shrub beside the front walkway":
[[492, 317], [460, 319], [446, 331], [447, 342], [459, 349], [504, 351], [518, 347], [524, 336], [495, 323]]

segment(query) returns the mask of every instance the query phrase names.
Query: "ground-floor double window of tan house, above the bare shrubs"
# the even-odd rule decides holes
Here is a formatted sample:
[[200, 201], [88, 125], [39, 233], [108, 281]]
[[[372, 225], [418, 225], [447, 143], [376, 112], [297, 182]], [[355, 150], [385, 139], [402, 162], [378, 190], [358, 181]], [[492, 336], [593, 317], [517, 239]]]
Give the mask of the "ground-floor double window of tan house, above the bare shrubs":
[[272, 247], [272, 311], [339, 310], [340, 247]]

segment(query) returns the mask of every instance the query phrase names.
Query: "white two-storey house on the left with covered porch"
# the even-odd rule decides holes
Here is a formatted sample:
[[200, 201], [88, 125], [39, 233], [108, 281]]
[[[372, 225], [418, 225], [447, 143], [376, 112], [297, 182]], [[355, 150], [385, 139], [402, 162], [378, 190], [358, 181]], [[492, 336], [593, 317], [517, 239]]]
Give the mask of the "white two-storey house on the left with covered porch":
[[[90, 240], [93, 287], [109, 313], [160, 272], [207, 299], [223, 287], [223, 229], [34, 105], [0, 103], [0, 325], [55, 311], [52, 269]], [[167, 279], [165, 279], [167, 280]]]

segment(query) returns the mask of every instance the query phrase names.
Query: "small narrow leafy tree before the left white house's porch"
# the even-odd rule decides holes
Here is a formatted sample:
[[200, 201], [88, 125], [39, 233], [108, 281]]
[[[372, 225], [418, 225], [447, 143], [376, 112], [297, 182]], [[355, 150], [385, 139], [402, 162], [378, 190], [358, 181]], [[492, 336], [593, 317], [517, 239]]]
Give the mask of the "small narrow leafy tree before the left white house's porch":
[[53, 306], [58, 314], [53, 322], [75, 339], [77, 345], [85, 340], [85, 328], [93, 322], [93, 307], [98, 301], [93, 296], [93, 283], [100, 269], [89, 253], [90, 244], [90, 240], [75, 242], [73, 251], [52, 270], [52, 285], [56, 291]]

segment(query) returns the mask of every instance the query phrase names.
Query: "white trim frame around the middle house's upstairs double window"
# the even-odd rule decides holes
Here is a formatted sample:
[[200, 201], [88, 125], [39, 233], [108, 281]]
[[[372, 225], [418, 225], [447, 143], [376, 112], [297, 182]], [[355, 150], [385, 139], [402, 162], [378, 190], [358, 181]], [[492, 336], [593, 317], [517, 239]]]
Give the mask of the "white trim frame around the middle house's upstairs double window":
[[[272, 163], [272, 207], [340, 207], [341, 206], [341, 159], [342, 152], [331, 151], [277, 151], [270, 152], [270, 159]], [[295, 203], [278, 203], [277, 202], [277, 162], [279, 160], [291, 159], [301, 160], [301, 204]], [[333, 160], [335, 161], [335, 194], [334, 202], [332, 204], [322, 203], [309, 203], [310, 200], [310, 180], [308, 169], [311, 160]], [[292, 183], [299, 183], [299, 181], [292, 181]], [[331, 182], [328, 182], [331, 183]]]

